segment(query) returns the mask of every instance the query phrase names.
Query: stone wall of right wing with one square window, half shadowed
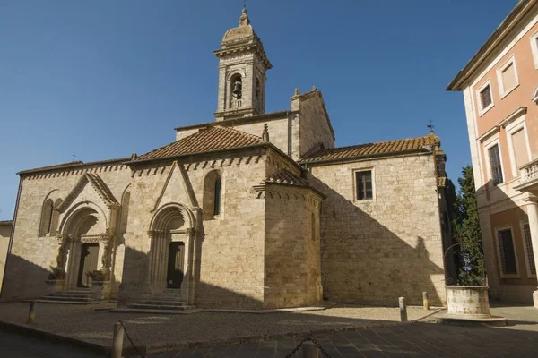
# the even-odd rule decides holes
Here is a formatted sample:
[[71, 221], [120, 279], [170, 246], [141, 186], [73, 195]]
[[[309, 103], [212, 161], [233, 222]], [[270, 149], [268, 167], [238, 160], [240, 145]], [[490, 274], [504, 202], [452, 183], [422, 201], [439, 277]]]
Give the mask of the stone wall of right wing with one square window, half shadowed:
[[[309, 165], [322, 203], [322, 283], [332, 301], [445, 303], [433, 157], [410, 155]], [[353, 172], [372, 169], [373, 200], [355, 200]]]

